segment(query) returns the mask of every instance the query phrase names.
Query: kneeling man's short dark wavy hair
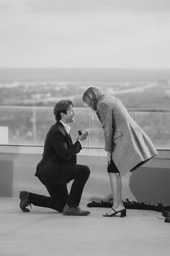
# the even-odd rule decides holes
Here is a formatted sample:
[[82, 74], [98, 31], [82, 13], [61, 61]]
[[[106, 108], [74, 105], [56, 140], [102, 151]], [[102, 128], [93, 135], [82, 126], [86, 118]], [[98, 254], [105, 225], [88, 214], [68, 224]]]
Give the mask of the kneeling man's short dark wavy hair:
[[55, 115], [55, 120], [61, 120], [61, 112], [64, 114], [67, 114], [67, 110], [70, 106], [74, 106], [73, 101], [69, 101], [69, 100], [62, 100], [62, 101], [58, 101], [58, 103], [56, 103], [54, 110], [53, 110], [53, 114]]

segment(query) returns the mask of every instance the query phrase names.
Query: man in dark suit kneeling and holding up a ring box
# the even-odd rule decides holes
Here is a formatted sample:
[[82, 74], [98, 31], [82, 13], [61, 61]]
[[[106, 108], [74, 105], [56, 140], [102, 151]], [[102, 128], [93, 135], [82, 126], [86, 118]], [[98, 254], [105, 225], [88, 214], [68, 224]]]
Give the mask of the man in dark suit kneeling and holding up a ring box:
[[[74, 121], [73, 102], [59, 101], [53, 110], [55, 124], [50, 127], [45, 138], [42, 160], [37, 164], [35, 176], [45, 185], [50, 197], [21, 191], [20, 208], [30, 212], [28, 205], [52, 208], [69, 216], [87, 216], [88, 210], [81, 210], [79, 202], [89, 178], [88, 166], [76, 164], [76, 154], [82, 149], [81, 142], [89, 135], [84, 132], [73, 144], [69, 134], [69, 123]], [[68, 194], [67, 183], [73, 180]]]

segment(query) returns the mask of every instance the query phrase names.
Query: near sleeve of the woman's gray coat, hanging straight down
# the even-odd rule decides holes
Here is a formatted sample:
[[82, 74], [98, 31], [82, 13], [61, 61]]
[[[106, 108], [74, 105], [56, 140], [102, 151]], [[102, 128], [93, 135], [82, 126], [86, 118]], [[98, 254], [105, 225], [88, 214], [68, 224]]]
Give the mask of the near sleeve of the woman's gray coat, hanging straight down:
[[104, 150], [112, 152], [113, 140], [115, 135], [115, 119], [112, 108], [109, 108], [106, 103], [100, 103], [98, 106], [99, 116], [102, 120], [102, 129], [104, 131], [105, 146]]

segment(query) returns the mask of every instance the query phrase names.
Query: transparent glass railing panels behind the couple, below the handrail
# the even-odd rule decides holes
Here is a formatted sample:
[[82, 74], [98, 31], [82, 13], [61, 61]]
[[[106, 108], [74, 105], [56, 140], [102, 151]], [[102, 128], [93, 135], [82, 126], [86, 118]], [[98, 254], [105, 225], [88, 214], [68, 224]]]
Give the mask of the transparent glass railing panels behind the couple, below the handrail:
[[[102, 125], [89, 108], [74, 108], [71, 137], [89, 130], [86, 148], [104, 148]], [[170, 109], [128, 109], [130, 116], [151, 137], [158, 149], [170, 149]], [[53, 107], [0, 106], [0, 145], [43, 145], [48, 129], [55, 123]]]

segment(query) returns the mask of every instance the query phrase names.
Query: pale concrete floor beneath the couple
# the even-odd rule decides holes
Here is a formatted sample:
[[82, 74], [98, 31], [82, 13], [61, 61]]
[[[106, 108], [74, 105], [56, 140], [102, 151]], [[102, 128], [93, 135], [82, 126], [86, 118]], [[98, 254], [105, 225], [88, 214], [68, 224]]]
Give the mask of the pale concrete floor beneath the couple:
[[127, 210], [125, 218], [104, 218], [107, 208], [88, 210], [85, 217], [63, 216], [32, 205], [22, 213], [18, 198], [0, 197], [0, 256], [170, 255], [170, 224], [161, 213]]

